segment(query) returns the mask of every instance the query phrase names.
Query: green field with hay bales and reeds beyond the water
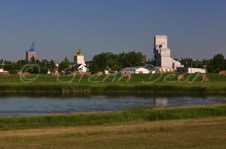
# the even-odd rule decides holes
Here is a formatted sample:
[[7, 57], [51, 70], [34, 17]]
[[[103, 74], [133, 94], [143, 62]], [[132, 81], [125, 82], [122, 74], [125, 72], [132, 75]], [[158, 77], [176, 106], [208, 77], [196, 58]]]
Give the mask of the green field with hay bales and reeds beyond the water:
[[218, 74], [123, 74], [0, 76], [1, 94], [225, 94], [226, 77]]

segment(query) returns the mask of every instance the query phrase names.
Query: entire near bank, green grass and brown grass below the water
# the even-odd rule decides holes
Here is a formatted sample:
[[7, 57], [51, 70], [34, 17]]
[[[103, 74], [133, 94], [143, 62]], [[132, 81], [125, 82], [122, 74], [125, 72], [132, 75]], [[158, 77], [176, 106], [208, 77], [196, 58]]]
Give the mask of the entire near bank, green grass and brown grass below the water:
[[226, 105], [1, 117], [0, 148], [225, 148]]

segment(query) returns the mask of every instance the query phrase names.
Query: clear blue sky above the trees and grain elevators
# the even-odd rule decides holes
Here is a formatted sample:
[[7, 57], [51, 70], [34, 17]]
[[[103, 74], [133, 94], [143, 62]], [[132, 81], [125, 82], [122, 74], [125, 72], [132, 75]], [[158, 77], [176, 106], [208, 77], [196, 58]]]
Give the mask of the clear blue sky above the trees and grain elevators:
[[85, 60], [102, 52], [153, 58], [154, 35], [167, 35], [173, 58], [226, 57], [226, 0], [0, 0], [0, 59]]

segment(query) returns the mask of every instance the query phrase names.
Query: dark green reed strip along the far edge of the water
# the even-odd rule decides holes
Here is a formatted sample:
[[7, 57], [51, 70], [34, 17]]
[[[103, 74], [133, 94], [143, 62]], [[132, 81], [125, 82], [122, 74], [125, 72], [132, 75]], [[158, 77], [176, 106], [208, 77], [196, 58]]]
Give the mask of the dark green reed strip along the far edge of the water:
[[205, 85], [0, 85], [0, 95], [226, 95], [226, 86]]

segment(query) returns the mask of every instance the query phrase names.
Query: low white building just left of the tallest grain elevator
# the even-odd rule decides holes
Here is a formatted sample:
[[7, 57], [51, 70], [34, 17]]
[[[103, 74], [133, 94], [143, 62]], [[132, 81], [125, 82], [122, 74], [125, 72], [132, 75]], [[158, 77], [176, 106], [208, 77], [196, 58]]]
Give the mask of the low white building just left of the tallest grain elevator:
[[121, 70], [122, 74], [148, 74], [150, 71], [145, 67], [126, 67]]

